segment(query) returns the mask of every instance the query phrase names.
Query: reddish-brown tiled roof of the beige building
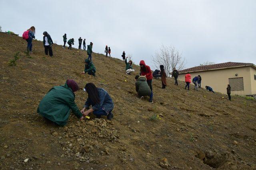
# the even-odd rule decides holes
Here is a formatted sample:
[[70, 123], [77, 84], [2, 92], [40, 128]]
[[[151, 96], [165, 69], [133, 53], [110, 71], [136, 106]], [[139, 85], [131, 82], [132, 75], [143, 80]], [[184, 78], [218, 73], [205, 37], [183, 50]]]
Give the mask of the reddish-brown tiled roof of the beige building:
[[184, 72], [205, 71], [205, 70], [212, 70], [212, 69], [220, 69], [220, 68], [236, 67], [236, 66], [248, 66], [248, 65], [254, 65], [254, 64], [227, 62], [227, 63], [211, 64], [211, 65], [205, 65], [205, 66], [195, 66], [195, 67], [187, 68], [184, 70], [180, 70], [179, 72], [184, 73]]

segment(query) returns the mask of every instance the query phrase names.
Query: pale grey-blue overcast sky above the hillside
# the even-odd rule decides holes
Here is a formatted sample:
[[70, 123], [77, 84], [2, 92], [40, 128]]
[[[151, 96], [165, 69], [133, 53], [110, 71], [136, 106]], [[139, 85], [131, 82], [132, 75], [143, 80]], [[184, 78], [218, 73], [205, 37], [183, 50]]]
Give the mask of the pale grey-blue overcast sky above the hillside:
[[[22, 35], [36, 27], [58, 44], [62, 36], [94, 43], [93, 51], [121, 59], [122, 51], [138, 64], [153, 67], [160, 45], [174, 45], [186, 68], [206, 61], [256, 64], [256, 0], [1, 0], [3, 31]], [[152, 68], [153, 69], [153, 68]]]

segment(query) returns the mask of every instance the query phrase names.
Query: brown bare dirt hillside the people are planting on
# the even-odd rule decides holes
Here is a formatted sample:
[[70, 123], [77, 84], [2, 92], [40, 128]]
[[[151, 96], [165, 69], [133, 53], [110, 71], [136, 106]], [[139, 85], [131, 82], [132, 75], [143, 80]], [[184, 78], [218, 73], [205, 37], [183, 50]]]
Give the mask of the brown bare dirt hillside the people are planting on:
[[[96, 43], [94, 44], [96, 45]], [[16, 66], [8, 62], [16, 52]], [[167, 79], [153, 80], [154, 103], [136, 96], [135, 73], [123, 61], [93, 53], [96, 77], [82, 75], [86, 51], [53, 46], [44, 55], [33, 40], [0, 33], [0, 169], [255, 169], [256, 102], [200, 89], [184, 90]], [[146, 57], [146, 56], [144, 56]], [[143, 59], [143, 57], [142, 57]], [[66, 79], [76, 80], [80, 109], [88, 82], [106, 89], [114, 100], [112, 121], [79, 121], [72, 113], [56, 127], [36, 113], [42, 97]]]

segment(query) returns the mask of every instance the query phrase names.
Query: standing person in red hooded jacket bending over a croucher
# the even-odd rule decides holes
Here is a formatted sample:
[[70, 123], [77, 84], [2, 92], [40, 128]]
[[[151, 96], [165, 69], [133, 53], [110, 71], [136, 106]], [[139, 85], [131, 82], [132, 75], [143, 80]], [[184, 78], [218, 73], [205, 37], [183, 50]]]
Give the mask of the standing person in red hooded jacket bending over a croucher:
[[152, 75], [150, 67], [145, 64], [144, 60], [140, 61], [140, 75], [145, 76], [147, 78], [147, 83], [151, 90], [149, 102], [153, 103], [153, 89], [152, 89], [153, 75]]

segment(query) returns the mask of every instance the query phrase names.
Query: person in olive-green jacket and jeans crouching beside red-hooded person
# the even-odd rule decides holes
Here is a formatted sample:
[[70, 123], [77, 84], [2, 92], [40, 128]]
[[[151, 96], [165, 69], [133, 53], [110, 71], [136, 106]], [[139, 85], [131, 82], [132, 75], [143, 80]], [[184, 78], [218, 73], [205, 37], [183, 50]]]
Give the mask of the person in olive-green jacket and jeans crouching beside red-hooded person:
[[150, 90], [148, 83], [146, 82], [146, 77], [145, 76], [140, 76], [137, 75], [135, 76], [135, 87], [136, 87], [136, 92], [140, 96], [140, 99], [143, 99], [144, 96], [149, 96], [149, 101], [152, 101], [153, 98], [153, 93]]

